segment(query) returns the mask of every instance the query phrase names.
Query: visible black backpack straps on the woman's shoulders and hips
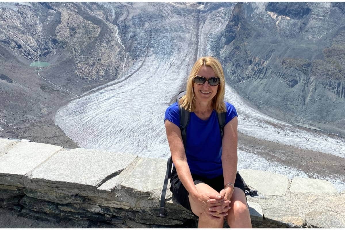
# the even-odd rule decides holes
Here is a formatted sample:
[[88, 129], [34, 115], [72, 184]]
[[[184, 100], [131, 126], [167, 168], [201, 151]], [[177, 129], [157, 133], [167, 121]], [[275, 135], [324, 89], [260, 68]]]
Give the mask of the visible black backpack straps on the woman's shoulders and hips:
[[[185, 90], [181, 91], [177, 95], [176, 101], [178, 102], [178, 100], [180, 100], [180, 98], [183, 97], [185, 94], [186, 94]], [[186, 148], [186, 141], [187, 141], [186, 127], [187, 127], [188, 122], [189, 122], [190, 112], [185, 110], [180, 104], [178, 105], [178, 108], [180, 110], [180, 130], [181, 130], [181, 136], [182, 136], [182, 140], [183, 140], [183, 145]], [[217, 118], [218, 118], [219, 130], [220, 130], [220, 138], [223, 138], [224, 126], [225, 126], [225, 112], [217, 113]], [[167, 191], [168, 180], [171, 178], [171, 166], [172, 166], [172, 160], [171, 160], [171, 156], [170, 156], [169, 159], [168, 159], [167, 172], [165, 174], [162, 195], [161, 195], [161, 198], [160, 198], [160, 212], [159, 212], [159, 216], [160, 217], [164, 217], [165, 194], [166, 194], [166, 191]], [[257, 190], [250, 189], [247, 186], [246, 182], [243, 180], [242, 177], [241, 177], [241, 179], [243, 181], [244, 188], [246, 190], [246, 195], [257, 194]]]

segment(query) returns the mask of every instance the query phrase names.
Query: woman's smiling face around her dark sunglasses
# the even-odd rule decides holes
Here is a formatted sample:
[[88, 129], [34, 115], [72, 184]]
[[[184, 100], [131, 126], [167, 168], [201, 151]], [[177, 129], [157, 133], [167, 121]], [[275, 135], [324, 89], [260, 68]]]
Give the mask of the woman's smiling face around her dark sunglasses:
[[[206, 79], [210, 77], [216, 77], [215, 72], [209, 66], [201, 67], [197, 75], [205, 77]], [[212, 99], [216, 96], [218, 85], [210, 86], [208, 84], [208, 81], [206, 81], [204, 84], [197, 84], [193, 82], [193, 88], [194, 88], [194, 96], [196, 98], [196, 101], [209, 102], [209, 101], [212, 101]]]

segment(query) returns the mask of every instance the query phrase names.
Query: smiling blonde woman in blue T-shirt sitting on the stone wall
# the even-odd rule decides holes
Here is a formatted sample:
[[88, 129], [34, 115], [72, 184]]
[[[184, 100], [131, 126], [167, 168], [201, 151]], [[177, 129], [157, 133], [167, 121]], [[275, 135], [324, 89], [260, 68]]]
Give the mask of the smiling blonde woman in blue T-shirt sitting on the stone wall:
[[[252, 228], [244, 193], [237, 174], [237, 113], [224, 102], [225, 78], [218, 60], [198, 59], [179, 100], [190, 112], [186, 150], [179, 128], [178, 103], [165, 112], [165, 127], [174, 168], [170, 190], [185, 208], [199, 217], [199, 228]], [[217, 112], [226, 112], [221, 140]]]

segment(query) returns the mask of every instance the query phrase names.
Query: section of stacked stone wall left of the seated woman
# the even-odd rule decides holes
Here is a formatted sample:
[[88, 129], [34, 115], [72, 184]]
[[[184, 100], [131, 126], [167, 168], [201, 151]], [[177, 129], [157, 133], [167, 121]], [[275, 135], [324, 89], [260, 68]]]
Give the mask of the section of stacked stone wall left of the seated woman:
[[69, 219], [77, 227], [195, 227], [194, 215], [171, 202], [170, 191], [166, 217], [159, 217], [166, 160], [26, 141], [0, 144], [0, 194], [21, 216]]

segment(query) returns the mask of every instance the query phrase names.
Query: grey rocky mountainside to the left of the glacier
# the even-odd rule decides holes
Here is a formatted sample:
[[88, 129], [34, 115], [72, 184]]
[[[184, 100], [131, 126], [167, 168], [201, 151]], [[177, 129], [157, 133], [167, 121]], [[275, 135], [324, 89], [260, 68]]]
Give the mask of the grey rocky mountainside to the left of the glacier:
[[[107, 3], [0, 3], [0, 136], [76, 147], [50, 116], [136, 60], [135, 44], [120, 37], [121, 10]], [[50, 66], [38, 71], [34, 61]]]

